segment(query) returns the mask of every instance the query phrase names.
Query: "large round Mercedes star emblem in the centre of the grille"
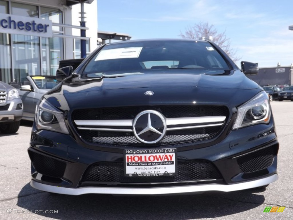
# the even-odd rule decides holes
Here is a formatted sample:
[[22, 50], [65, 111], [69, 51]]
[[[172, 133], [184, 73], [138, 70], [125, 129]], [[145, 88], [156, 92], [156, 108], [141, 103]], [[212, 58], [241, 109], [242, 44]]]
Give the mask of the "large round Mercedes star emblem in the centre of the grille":
[[140, 112], [133, 121], [134, 136], [142, 143], [158, 143], [164, 138], [166, 128], [165, 117], [154, 110]]

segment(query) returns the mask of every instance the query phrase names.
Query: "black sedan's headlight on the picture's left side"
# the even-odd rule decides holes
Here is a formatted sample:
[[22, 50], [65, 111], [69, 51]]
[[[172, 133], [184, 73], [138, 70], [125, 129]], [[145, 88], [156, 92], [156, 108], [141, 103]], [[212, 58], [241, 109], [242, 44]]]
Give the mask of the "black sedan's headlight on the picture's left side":
[[63, 112], [59, 111], [46, 99], [39, 101], [36, 107], [35, 122], [37, 129], [45, 129], [69, 134], [63, 119]]

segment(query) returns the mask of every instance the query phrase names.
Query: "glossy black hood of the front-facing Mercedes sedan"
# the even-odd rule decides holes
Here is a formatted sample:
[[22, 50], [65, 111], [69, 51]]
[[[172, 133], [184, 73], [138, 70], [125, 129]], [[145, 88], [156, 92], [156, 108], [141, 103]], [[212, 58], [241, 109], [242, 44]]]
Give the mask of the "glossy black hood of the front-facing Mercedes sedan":
[[[238, 106], [262, 89], [242, 72], [184, 70], [152, 71], [83, 79], [72, 76], [45, 98], [65, 99], [66, 109], [133, 105], [218, 104]], [[145, 95], [148, 90], [153, 95]], [[50, 99], [52, 100], [52, 99]], [[65, 101], [64, 100], [64, 101]], [[60, 102], [60, 101], [59, 101]], [[54, 103], [54, 101], [52, 102]], [[57, 106], [59, 104], [55, 104]], [[65, 103], [63, 104], [65, 106]], [[60, 106], [57, 106], [60, 107]], [[61, 107], [62, 108], [62, 104]]]

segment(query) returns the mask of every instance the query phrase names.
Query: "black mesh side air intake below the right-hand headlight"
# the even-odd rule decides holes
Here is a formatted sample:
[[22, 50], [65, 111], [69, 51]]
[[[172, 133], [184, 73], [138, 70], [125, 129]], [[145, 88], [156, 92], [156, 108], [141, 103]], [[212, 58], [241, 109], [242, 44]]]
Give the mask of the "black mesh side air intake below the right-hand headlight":
[[254, 172], [263, 170], [272, 165], [275, 155], [276, 150], [271, 146], [239, 157], [237, 163], [241, 172]]

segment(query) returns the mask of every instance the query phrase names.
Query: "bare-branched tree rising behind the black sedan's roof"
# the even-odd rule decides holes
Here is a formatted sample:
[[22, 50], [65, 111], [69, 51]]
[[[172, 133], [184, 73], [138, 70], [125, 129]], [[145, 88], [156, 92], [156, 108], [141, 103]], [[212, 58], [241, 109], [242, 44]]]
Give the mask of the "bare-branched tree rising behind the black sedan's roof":
[[194, 26], [185, 28], [185, 33], [180, 31], [179, 36], [185, 39], [201, 39], [202, 37], [212, 36], [212, 41], [219, 45], [234, 62], [237, 62], [241, 57], [236, 55], [237, 50], [230, 48], [230, 39], [226, 37], [225, 32], [226, 30], [222, 33], [218, 33], [213, 24], [209, 25], [208, 22], [204, 23], [200, 21], [200, 23], [194, 24]]

